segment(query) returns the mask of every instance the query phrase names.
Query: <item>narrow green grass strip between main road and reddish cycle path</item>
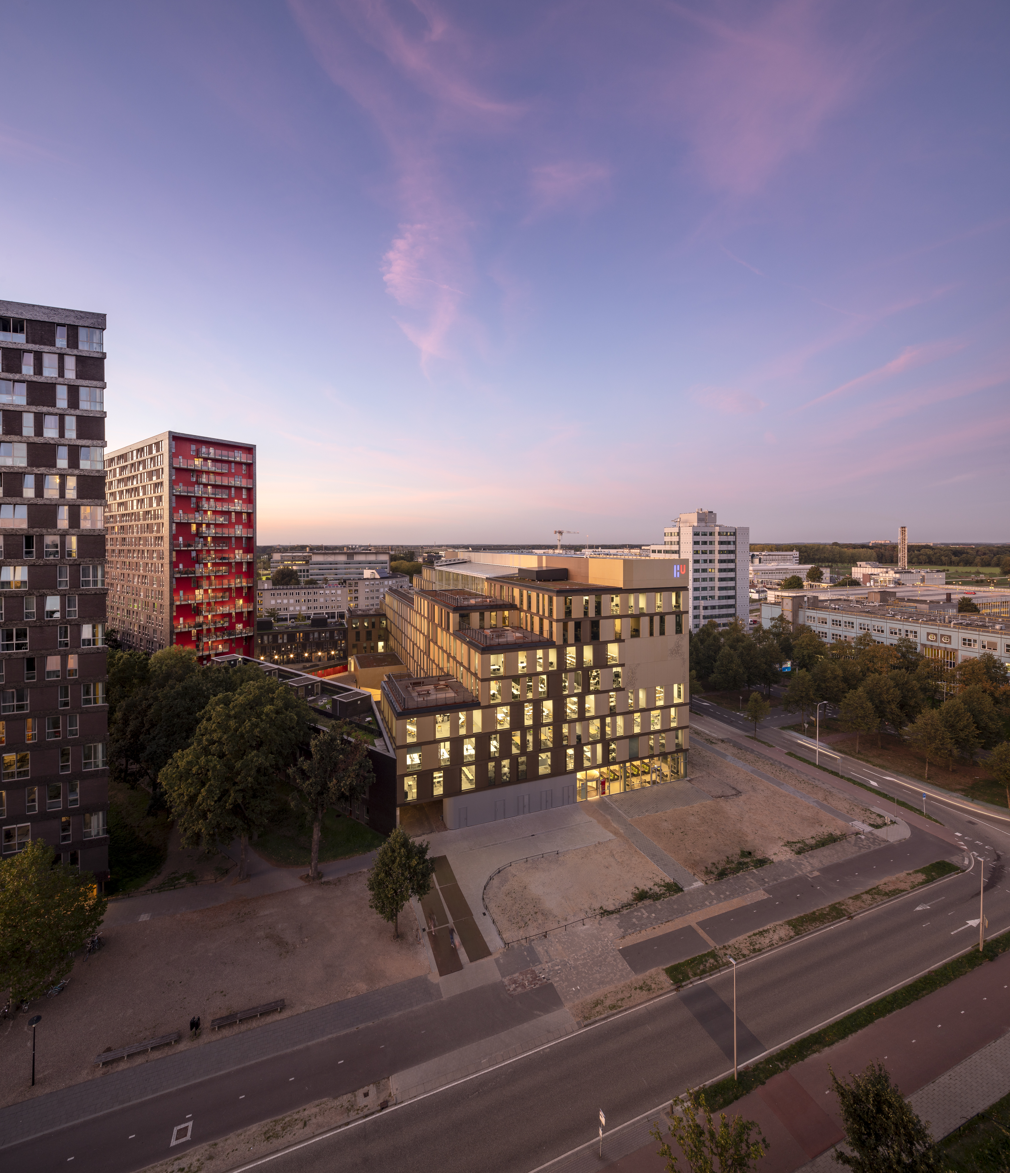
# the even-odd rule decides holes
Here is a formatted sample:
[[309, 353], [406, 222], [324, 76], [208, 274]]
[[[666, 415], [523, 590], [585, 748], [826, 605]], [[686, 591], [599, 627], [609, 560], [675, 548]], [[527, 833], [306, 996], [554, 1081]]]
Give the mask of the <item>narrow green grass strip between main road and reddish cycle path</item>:
[[[790, 1043], [782, 1051], [770, 1055], [766, 1059], [759, 1060], [753, 1066], [742, 1067], [738, 1079], [733, 1079], [732, 1076], [721, 1079], [707, 1089], [705, 1101], [714, 1112], [725, 1108], [735, 1100], [752, 1092], [762, 1084], [767, 1083], [769, 1079], [779, 1074], [779, 1072], [787, 1071], [797, 1063], [803, 1063], [804, 1059], [817, 1055], [818, 1051], [834, 1046], [835, 1043], [840, 1043], [851, 1035], [855, 1035], [857, 1031], [862, 1030], [864, 1026], [869, 1026], [878, 1019], [894, 1013], [895, 1010], [910, 1006], [920, 998], [924, 998], [927, 994], [933, 994], [934, 990], [940, 990], [944, 985], [949, 985], [950, 982], [963, 977], [965, 974], [970, 974], [987, 961], [996, 961], [1008, 949], [1010, 949], [1010, 934], [987, 941], [982, 952], [973, 949], [961, 957], [955, 957], [954, 961], [940, 965], [929, 974], [923, 974], [922, 977], [909, 982], [908, 985], [903, 985], [900, 990], [894, 990], [892, 994], [878, 998], [876, 1002], [871, 1002], [869, 1005], [862, 1006], [860, 1010], [853, 1010], [852, 1013], [839, 1018], [838, 1022], [832, 1023], [830, 1026], [824, 1026], [821, 1030], [813, 1031], [813, 1033], [807, 1035], [805, 1038], [797, 1039], [796, 1043]], [[687, 963], [682, 962], [681, 964]], [[670, 968], [673, 969], [674, 967]]]

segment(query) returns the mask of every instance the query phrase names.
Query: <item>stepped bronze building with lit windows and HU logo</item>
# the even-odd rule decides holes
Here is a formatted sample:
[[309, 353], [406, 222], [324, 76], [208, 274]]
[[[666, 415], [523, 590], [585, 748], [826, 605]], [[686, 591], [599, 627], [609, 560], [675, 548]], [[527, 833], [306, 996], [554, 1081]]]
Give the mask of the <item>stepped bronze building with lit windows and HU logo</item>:
[[385, 599], [410, 673], [381, 692], [397, 806], [462, 827], [683, 777], [687, 564], [472, 558]]

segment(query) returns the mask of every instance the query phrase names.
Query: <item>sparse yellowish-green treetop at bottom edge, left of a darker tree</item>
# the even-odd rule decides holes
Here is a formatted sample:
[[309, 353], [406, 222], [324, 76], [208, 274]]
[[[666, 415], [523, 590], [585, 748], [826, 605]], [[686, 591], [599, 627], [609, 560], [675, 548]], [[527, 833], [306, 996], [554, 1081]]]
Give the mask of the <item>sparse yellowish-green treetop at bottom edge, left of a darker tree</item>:
[[718, 1173], [749, 1173], [771, 1147], [756, 1120], [741, 1116], [728, 1119], [725, 1112], [719, 1112], [716, 1127], [700, 1089], [689, 1091], [680, 1103], [674, 1101], [666, 1116], [669, 1140], [658, 1125], [653, 1125], [649, 1134], [660, 1144], [658, 1155], [667, 1162], [667, 1173], [681, 1173], [677, 1148], [688, 1173], [714, 1173], [716, 1169]]

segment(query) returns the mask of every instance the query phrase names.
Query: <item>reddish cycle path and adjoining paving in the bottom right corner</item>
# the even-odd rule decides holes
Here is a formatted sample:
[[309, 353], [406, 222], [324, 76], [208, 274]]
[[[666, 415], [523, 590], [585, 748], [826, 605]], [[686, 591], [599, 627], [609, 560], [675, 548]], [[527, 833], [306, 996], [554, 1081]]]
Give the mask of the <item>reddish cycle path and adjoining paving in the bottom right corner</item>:
[[[940, 1139], [1010, 1093], [1008, 986], [1010, 955], [1004, 954], [773, 1076], [726, 1114], [755, 1120], [770, 1141], [762, 1173], [830, 1173], [838, 1168], [832, 1150], [844, 1133], [828, 1069], [844, 1079], [879, 1059]], [[742, 1026], [743, 1018], [745, 1012]], [[732, 1073], [731, 1049], [726, 1060]], [[669, 1093], [680, 1096], [684, 1090], [670, 1087]], [[605, 1137], [602, 1160], [598, 1141], [589, 1140], [544, 1166], [542, 1173], [662, 1173], [658, 1146], [649, 1138], [655, 1123], [666, 1127], [662, 1108]]]

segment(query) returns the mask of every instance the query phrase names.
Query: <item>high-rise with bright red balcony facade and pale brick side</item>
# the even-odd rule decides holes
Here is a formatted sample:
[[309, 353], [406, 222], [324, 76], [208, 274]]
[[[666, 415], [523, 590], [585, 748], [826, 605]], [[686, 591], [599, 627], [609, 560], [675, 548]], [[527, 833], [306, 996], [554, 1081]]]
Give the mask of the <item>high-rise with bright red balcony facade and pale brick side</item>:
[[255, 445], [162, 432], [109, 453], [109, 624], [124, 647], [254, 656]]

